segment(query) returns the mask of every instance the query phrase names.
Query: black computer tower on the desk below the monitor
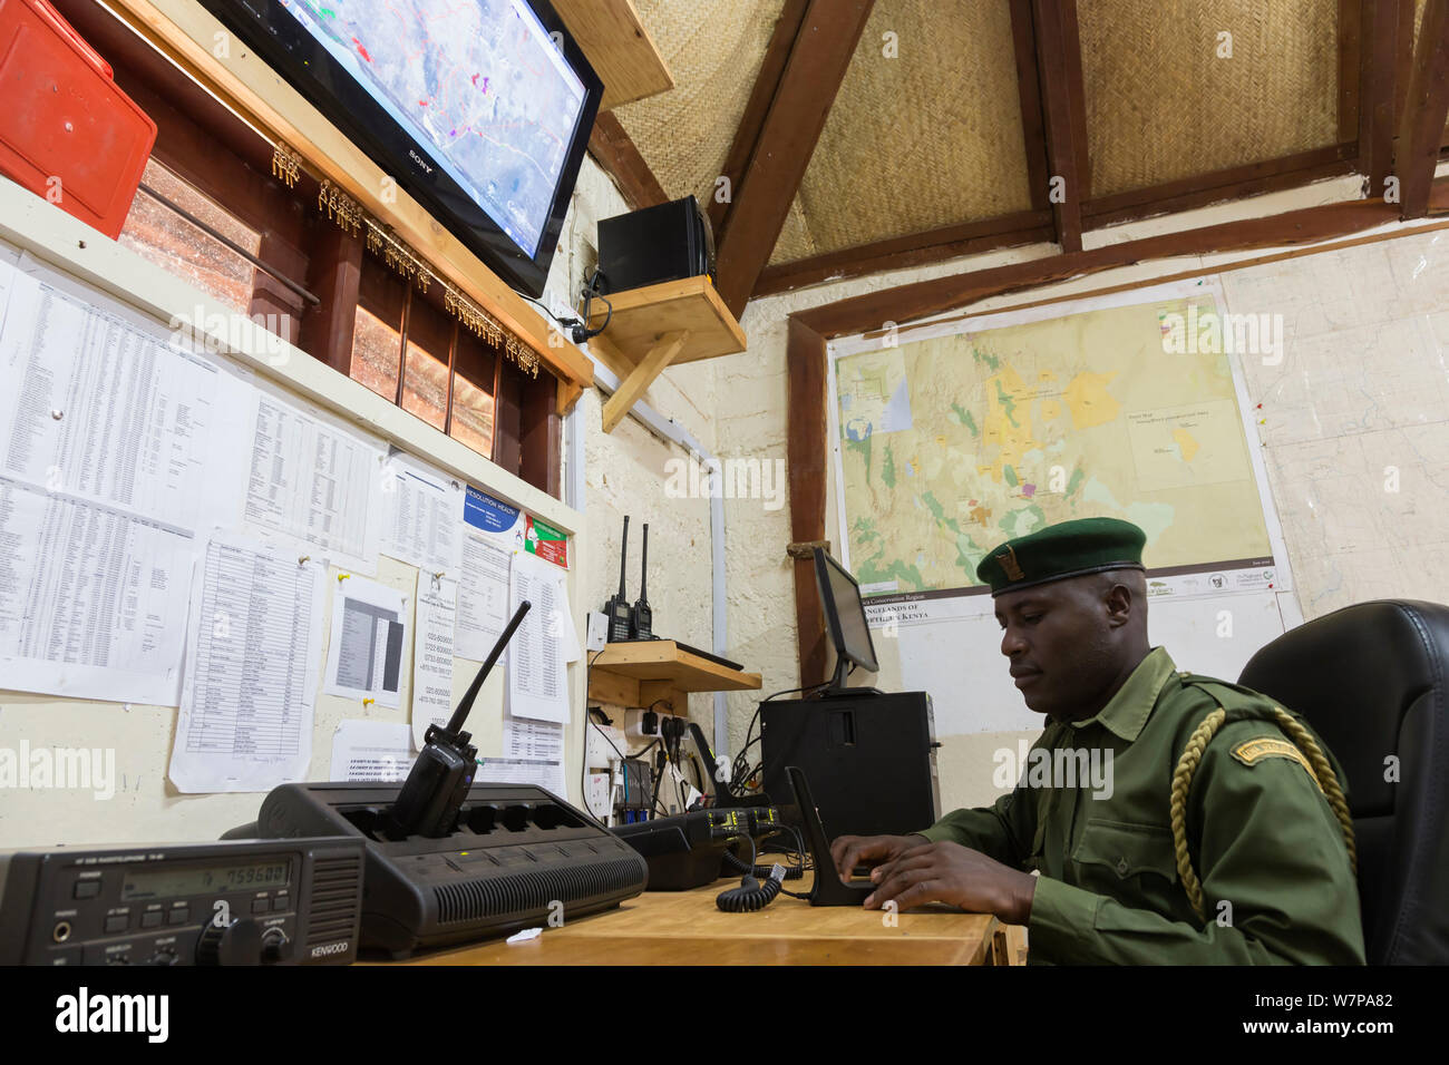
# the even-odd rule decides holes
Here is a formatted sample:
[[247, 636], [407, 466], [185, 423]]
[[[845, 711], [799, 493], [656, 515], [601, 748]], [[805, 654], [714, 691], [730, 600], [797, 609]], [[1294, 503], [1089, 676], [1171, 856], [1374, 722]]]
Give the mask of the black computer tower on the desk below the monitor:
[[785, 767], [798, 765], [832, 839], [898, 836], [940, 817], [939, 745], [924, 691], [771, 700], [759, 717], [767, 794], [788, 807]]

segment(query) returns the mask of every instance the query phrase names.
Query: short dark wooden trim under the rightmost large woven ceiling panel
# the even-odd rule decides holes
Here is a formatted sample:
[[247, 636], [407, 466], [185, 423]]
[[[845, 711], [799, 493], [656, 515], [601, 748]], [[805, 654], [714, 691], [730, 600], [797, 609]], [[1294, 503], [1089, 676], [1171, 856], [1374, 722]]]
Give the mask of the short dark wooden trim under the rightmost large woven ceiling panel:
[[1352, 174], [1358, 165], [1358, 142], [1350, 141], [1104, 196], [1082, 204], [1084, 225], [1087, 229], [1100, 229], [1132, 219], [1294, 188], [1337, 174]]

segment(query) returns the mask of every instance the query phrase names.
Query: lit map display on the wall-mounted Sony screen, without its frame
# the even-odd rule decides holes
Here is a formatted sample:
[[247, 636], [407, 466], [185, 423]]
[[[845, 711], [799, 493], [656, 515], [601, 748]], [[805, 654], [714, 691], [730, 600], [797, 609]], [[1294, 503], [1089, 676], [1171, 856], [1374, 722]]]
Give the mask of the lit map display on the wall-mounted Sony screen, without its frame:
[[527, 251], [584, 85], [520, 0], [300, 0], [297, 20]]

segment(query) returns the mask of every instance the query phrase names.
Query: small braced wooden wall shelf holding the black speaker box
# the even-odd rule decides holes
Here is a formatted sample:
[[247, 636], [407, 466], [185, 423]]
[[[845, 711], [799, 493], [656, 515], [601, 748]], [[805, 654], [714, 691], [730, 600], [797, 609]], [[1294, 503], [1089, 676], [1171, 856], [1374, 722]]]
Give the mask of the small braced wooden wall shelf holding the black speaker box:
[[588, 327], [609, 322], [598, 345], [610, 361], [623, 364], [619, 391], [604, 403], [603, 427], [611, 433], [635, 401], [664, 372], [680, 362], [710, 359], [745, 351], [745, 330], [729, 313], [709, 275], [630, 288], [609, 297], [613, 317], [601, 300], [594, 300]]

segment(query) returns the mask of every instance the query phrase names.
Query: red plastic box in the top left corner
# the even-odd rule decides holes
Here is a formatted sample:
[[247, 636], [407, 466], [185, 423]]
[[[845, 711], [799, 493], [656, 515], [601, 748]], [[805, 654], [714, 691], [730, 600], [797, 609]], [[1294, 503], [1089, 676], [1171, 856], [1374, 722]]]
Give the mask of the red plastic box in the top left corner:
[[113, 241], [156, 123], [45, 0], [0, 0], [0, 174]]

